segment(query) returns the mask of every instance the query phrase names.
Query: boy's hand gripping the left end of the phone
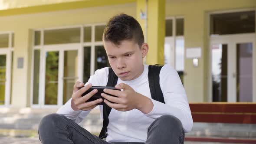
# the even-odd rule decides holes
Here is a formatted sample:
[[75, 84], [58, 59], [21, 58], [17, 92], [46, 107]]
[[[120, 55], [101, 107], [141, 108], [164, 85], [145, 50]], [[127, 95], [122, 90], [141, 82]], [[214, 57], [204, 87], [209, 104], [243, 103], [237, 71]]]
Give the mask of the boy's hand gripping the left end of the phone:
[[86, 92], [89, 88], [92, 87], [92, 84], [88, 84], [88, 85], [85, 85], [83, 88], [79, 89], [83, 85], [84, 85], [84, 83], [81, 83], [81, 82], [76, 82], [74, 85], [73, 95], [72, 95], [72, 99], [71, 99], [71, 108], [74, 111], [78, 111], [78, 110], [87, 111], [92, 108], [95, 108], [98, 103], [102, 102], [102, 98], [99, 98], [95, 101], [85, 102], [89, 98], [91, 98], [92, 95], [97, 93], [98, 90], [94, 89], [92, 92], [89, 92], [87, 95], [82, 97], [81, 95], [84, 92]]

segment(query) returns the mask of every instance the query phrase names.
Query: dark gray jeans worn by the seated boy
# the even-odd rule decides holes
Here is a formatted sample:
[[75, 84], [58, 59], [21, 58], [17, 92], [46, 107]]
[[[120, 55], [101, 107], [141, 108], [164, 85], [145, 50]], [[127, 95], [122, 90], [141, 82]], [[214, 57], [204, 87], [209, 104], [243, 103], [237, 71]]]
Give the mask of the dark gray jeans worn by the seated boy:
[[38, 128], [42, 144], [183, 144], [184, 130], [181, 121], [172, 115], [157, 118], [148, 128], [145, 143], [108, 143], [86, 131], [74, 121], [59, 114], [46, 115]]

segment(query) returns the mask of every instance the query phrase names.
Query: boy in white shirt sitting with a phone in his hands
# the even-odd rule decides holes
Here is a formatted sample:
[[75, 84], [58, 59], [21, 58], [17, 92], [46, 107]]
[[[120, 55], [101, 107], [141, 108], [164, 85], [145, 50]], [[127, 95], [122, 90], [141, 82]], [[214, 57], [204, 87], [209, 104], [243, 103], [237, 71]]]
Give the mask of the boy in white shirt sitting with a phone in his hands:
[[[160, 71], [159, 83], [164, 103], [151, 98], [148, 65], [143, 64], [148, 44], [138, 21], [126, 14], [109, 20], [103, 43], [111, 68], [118, 76], [115, 88], [105, 89], [102, 97], [112, 108], [109, 114], [106, 141], [78, 125], [102, 98], [86, 102], [97, 90], [81, 97], [92, 85], [106, 86], [108, 68], [99, 69], [89, 81], [76, 82], [72, 98], [39, 124], [43, 144], [182, 144], [184, 132], [193, 125], [187, 97], [177, 72], [169, 65]], [[115, 95], [113, 97], [110, 95]], [[101, 116], [103, 106], [100, 105]]]

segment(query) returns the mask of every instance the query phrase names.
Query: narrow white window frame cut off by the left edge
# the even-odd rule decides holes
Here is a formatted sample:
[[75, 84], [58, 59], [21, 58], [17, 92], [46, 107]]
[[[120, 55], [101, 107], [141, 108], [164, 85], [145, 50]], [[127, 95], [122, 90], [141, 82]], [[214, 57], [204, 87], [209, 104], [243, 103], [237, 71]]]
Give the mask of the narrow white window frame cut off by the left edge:
[[11, 107], [11, 72], [12, 72], [12, 52], [13, 52], [13, 32], [0, 32], [0, 34], [8, 34], [8, 47], [0, 48], [0, 54], [6, 55], [6, 81], [5, 81], [5, 98], [4, 105], [0, 105], [0, 107]]

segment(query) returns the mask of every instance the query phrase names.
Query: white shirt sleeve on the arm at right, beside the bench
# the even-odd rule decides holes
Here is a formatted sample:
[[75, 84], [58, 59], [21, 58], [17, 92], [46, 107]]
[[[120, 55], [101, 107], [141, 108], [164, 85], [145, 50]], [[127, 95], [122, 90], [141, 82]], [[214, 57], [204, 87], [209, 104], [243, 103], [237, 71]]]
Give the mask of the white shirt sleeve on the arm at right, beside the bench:
[[165, 104], [151, 99], [154, 104], [153, 109], [145, 115], [154, 119], [162, 115], [173, 115], [181, 121], [185, 132], [191, 131], [193, 119], [187, 96], [177, 71], [170, 65], [164, 65], [159, 76]]

